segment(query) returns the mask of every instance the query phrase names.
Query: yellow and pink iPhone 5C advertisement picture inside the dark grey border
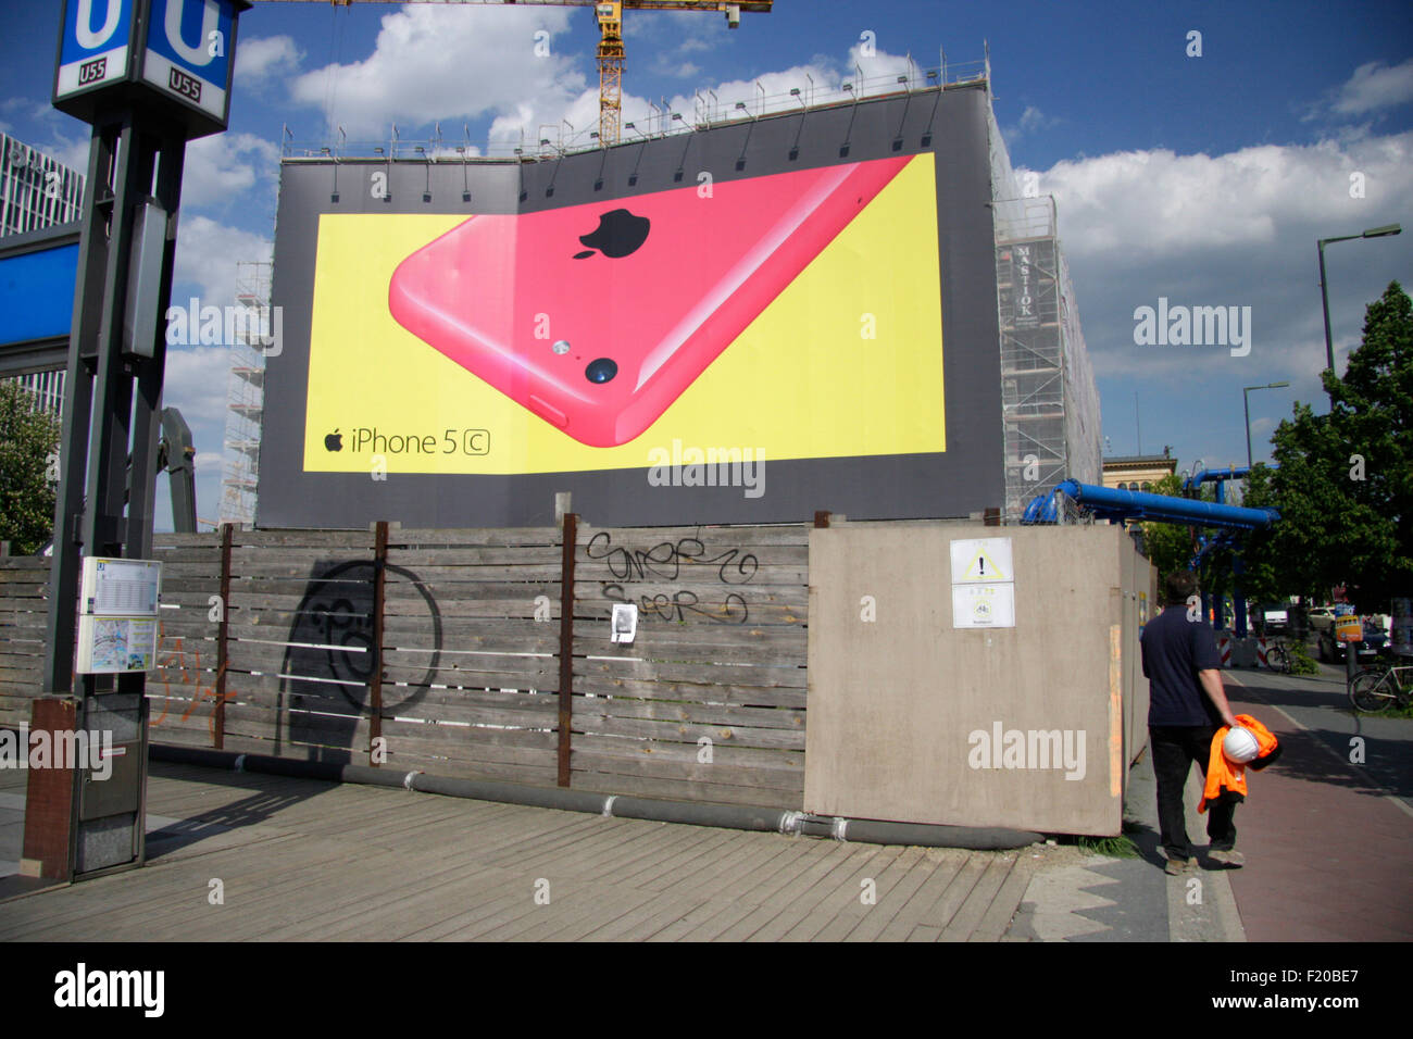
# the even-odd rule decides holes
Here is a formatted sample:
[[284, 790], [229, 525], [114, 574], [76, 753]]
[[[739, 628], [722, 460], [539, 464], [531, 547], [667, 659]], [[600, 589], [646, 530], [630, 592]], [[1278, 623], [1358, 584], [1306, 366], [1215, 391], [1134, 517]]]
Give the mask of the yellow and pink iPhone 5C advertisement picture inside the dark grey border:
[[924, 154], [629, 206], [325, 215], [304, 468], [944, 451], [934, 182]]

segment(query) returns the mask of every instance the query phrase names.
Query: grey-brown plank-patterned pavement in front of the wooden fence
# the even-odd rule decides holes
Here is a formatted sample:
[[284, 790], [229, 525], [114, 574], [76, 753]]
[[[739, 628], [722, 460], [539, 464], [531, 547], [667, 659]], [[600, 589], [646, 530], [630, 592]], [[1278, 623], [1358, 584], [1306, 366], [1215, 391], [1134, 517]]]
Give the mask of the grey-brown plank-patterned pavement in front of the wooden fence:
[[160, 762], [148, 811], [146, 868], [0, 903], [0, 941], [996, 941], [1044, 858]]

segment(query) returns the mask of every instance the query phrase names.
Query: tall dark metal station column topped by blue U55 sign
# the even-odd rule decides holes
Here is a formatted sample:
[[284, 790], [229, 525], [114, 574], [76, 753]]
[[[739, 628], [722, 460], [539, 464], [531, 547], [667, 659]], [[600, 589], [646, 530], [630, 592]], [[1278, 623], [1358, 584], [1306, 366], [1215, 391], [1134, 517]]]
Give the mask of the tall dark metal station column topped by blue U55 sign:
[[[129, 609], [103, 605], [109, 592], [88, 592], [99, 609], [81, 604], [79, 573], [88, 557], [95, 574], [85, 570], [85, 582], [97, 585], [103, 567], [114, 574], [123, 560], [153, 553], [167, 359], [162, 318], [171, 298], [182, 161], [188, 140], [226, 127], [236, 21], [249, 6], [109, 0], [103, 25], [95, 28], [89, 4], [64, 4], [54, 105], [90, 123], [93, 134], [55, 503], [48, 695], [35, 703], [34, 720], [37, 729], [76, 729], [71, 745], [100, 746], [31, 777], [23, 875], [71, 881], [138, 867], [146, 858], [141, 669], [153, 666], [153, 653], [151, 642], [141, 650], [136, 642], [138, 632], [154, 638], [157, 578], [143, 599], [144, 616], [129, 623]], [[123, 565], [131, 573], [133, 564]], [[124, 584], [130, 578], [114, 580], [131, 587]], [[124, 601], [126, 592], [113, 594]], [[76, 616], [81, 605], [83, 623]], [[117, 616], [100, 629], [103, 609]], [[126, 625], [126, 636], [114, 636], [114, 625]], [[116, 659], [113, 645], [122, 646]], [[97, 646], [105, 646], [103, 659]], [[76, 680], [75, 650], [85, 671]]]

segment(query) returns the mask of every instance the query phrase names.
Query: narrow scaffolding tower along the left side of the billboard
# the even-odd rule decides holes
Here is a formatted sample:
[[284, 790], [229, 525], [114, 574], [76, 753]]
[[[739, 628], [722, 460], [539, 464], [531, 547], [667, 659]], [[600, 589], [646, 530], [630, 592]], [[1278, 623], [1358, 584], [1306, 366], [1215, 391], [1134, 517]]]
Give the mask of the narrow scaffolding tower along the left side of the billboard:
[[260, 476], [260, 424], [264, 413], [264, 344], [270, 321], [273, 264], [236, 262], [236, 305], [246, 321], [230, 345], [226, 379], [226, 459], [220, 483], [220, 522], [254, 526]]

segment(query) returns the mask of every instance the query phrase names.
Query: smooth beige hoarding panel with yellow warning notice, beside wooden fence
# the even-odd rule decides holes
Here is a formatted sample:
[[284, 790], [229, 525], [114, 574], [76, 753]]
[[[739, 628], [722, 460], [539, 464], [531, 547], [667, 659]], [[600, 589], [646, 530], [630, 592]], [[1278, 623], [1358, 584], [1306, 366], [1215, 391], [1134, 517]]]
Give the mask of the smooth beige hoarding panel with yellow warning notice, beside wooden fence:
[[[951, 541], [998, 534], [1015, 628], [955, 628]], [[1133, 621], [1150, 587], [1116, 526], [812, 530], [805, 810], [1119, 833], [1147, 714]]]

